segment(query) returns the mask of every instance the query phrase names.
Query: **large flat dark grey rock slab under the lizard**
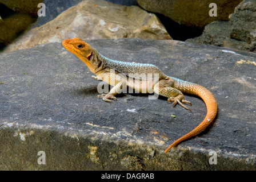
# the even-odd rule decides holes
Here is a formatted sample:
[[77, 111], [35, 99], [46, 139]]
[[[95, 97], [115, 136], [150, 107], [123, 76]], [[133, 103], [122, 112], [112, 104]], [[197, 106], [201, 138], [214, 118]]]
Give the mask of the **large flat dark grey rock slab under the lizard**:
[[88, 42], [110, 59], [152, 63], [205, 86], [218, 102], [214, 123], [165, 154], [205, 117], [202, 100], [185, 95], [191, 112], [146, 94], [103, 102], [82, 61], [60, 43], [42, 44], [0, 54], [0, 169], [256, 169], [255, 53], [174, 40]]

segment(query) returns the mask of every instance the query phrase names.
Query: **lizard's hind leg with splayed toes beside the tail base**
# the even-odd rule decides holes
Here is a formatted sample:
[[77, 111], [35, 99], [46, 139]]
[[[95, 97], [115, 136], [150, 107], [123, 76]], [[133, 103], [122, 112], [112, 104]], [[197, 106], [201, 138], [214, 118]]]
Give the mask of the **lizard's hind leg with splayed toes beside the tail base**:
[[154, 92], [161, 96], [167, 97], [168, 104], [171, 101], [171, 102], [173, 102], [173, 106], [179, 104], [182, 107], [184, 107], [185, 109], [191, 111], [189, 109], [189, 107], [182, 104], [182, 103], [184, 103], [184, 104], [191, 105], [191, 103], [184, 99], [184, 95], [181, 91], [173, 88], [171, 85], [173, 85], [173, 82], [170, 80], [160, 80], [157, 84], [155, 84]]

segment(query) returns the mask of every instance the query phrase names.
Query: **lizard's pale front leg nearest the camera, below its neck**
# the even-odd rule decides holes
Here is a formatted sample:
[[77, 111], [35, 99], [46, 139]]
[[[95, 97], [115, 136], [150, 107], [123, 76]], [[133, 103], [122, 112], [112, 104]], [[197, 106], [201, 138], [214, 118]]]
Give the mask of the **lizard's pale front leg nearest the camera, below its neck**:
[[114, 73], [105, 73], [102, 80], [110, 85], [114, 85], [114, 87], [109, 93], [98, 95], [97, 98], [102, 98], [102, 100], [106, 102], [112, 102], [111, 100], [117, 101], [115, 95], [123, 89], [123, 85], [126, 84], [126, 81], [121, 76], [115, 75]]

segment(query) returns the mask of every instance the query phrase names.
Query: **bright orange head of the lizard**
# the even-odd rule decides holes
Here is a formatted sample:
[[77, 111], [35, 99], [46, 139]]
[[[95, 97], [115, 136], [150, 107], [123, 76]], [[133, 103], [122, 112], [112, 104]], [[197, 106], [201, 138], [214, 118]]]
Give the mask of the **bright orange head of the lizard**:
[[79, 59], [83, 62], [87, 62], [91, 59], [93, 54], [93, 48], [82, 39], [65, 39], [62, 42], [62, 46], [65, 47], [68, 51], [74, 53]]

